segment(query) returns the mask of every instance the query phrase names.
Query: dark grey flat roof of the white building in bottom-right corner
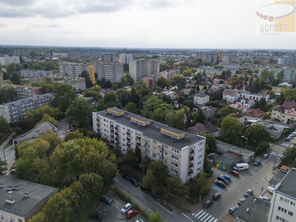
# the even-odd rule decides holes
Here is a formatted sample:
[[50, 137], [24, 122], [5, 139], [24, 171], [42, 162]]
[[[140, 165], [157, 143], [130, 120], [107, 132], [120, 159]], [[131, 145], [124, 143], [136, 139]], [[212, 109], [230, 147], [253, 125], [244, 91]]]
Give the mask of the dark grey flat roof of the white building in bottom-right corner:
[[288, 195], [296, 200], [296, 168], [292, 168], [286, 174], [279, 186], [277, 185], [276, 191]]

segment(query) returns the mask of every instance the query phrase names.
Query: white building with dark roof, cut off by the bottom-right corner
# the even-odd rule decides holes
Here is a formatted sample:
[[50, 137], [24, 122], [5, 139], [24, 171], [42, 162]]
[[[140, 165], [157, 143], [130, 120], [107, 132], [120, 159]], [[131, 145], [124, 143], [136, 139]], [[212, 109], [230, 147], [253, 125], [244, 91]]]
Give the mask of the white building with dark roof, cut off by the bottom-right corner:
[[296, 221], [296, 168], [292, 168], [274, 187], [268, 222]]

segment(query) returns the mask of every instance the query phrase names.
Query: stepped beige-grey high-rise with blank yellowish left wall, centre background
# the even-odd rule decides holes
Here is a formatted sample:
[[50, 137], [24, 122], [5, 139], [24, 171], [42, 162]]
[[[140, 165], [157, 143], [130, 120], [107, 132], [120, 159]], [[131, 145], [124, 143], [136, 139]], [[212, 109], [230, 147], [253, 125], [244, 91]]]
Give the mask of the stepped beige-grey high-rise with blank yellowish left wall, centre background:
[[129, 72], [134, 81], [142, 80], [145, 75], [159, 75], [159, 61], [156, 59], [130, 61]]

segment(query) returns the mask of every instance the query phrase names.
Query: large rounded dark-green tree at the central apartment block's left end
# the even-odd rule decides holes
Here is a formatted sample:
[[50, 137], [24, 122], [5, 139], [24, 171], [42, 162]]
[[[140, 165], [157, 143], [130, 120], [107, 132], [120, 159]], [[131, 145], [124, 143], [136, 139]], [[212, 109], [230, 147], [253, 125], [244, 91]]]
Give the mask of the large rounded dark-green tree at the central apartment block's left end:
[[70, 125], [87, 127], [92, 123], [92, 112], [95, 112], [89, 102], [85, 99], [76, 98], [65, 112], [65, 118]]

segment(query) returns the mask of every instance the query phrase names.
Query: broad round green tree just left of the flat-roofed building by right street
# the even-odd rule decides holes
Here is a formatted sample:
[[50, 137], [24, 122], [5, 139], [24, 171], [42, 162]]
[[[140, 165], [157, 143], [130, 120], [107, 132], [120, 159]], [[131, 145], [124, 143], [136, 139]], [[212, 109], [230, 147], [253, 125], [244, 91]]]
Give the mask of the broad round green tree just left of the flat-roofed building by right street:
[[271, 139], [266, 128], [258, 124], [249, 126], [244, 132], [244, 135], [249, 140], [256, 141], [257, 144], [259, 144], [260, 141], [270, 141]]

